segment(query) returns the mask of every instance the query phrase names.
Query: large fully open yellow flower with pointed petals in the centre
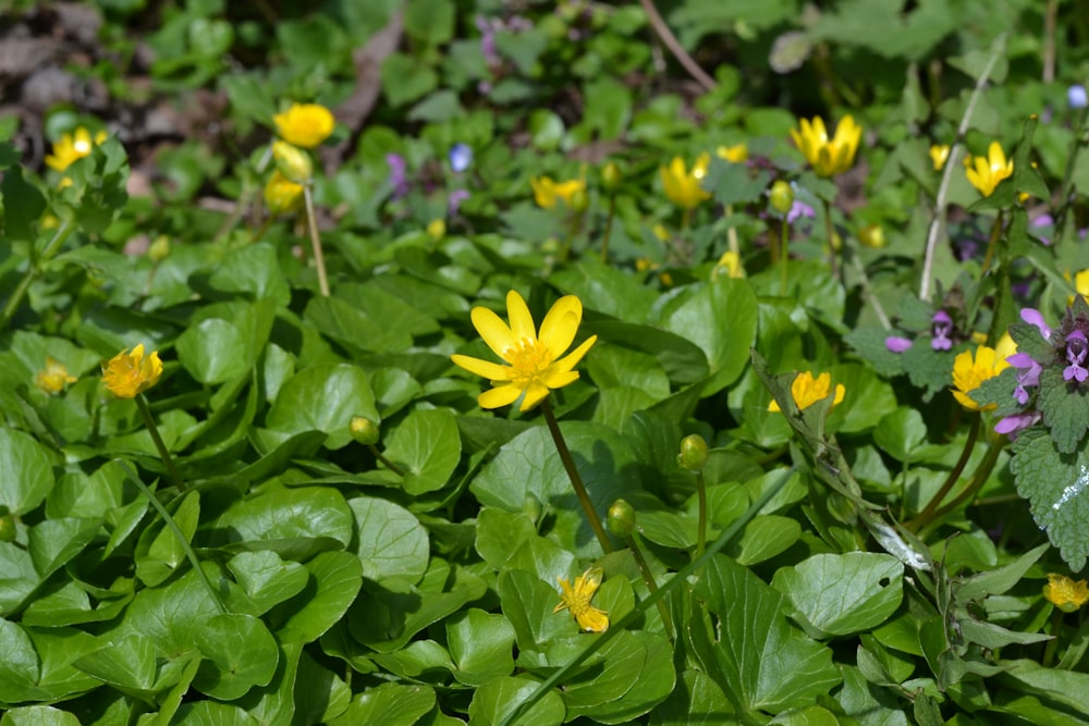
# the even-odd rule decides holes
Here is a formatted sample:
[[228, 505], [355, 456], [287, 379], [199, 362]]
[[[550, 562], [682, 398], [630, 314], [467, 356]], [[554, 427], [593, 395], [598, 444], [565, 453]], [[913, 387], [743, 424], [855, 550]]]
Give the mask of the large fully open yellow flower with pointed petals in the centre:
[[529, 410], [552, 389], [562, 389], [578, 379], [572, 370], [597, 335], [586, 339], [574, 352], [560, 358], [571, 347], [583, 320], [583, 303], [574, 295], [561, 297], [544, 316], [540, 335], [534, 328], [534, 318], [516, 291], [506, 294], [507, 327], [488, 308], [476, 307], [470, 313], [473, 327], [495, 355], [509, 365], [501, 366], [469, 356], [453, 355], [450, 359], [470, 373], [491, 380], [492, 387], [477, 398], [481, 408], [499, 408], [513, 404], [519, 397], [519, 410]]

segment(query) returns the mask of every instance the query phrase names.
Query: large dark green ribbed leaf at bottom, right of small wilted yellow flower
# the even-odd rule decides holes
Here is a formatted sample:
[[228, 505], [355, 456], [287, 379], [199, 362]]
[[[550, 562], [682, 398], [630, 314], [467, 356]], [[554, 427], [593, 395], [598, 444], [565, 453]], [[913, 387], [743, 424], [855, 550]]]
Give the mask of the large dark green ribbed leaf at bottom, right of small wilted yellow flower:
[[714, 638], [696, 617], [689, 638], [696, 657], [747, 711], [779, 713], [812, 704], [841, 680], [832, 651], [792, 628], [782, 598], [748, 569], [719, 555], [696, 583], [719, 617]]

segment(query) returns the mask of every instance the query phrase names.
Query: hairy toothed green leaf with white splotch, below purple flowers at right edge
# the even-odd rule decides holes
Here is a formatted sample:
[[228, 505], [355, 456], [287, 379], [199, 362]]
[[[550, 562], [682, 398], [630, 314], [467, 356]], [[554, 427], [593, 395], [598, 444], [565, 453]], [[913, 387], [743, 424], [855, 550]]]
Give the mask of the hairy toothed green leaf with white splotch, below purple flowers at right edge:
[[1029, 502], [1036, 524], [1048, 531], [1070, 569], [1085, 567], [1089, 556], [1089, 454], [1062, 454], [1048, 432], [1033, 427], [1013, 444], [1010, 470], [1017, 493]]

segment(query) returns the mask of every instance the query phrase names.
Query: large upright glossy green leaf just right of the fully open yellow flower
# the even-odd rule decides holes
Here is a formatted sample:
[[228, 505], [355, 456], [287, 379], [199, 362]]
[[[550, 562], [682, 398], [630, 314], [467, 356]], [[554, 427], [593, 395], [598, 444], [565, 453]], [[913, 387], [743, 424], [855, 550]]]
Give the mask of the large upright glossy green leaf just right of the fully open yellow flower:
[[703, 395], [708, 396], [737, 380], [748, 361], [756, 341], [756, 294], [745, 280], [730, 278], [694, 285], [671, 300], [664, 323], [707, 355], [711, 378]]

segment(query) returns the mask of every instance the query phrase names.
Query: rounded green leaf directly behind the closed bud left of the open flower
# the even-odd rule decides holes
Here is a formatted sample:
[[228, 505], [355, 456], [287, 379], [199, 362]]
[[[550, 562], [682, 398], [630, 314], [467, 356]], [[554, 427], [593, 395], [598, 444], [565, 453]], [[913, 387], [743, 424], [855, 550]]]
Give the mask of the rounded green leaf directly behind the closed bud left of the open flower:
[[348, 364], [323, 365], [287, 379], [267, 424], [286, 434], [323, 431], [326, 447], [337, 450], [352, 441], [348, 427], [355, 416], [379, 420], [366, 371]]

